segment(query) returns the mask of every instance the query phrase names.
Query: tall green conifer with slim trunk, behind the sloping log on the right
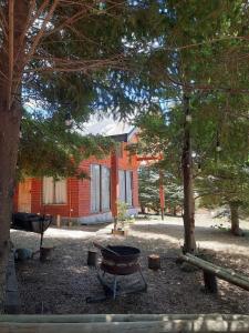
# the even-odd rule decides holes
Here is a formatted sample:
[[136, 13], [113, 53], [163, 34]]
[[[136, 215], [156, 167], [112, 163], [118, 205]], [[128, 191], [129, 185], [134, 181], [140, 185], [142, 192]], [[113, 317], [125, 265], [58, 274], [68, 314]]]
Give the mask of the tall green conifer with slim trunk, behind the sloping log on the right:
[[[249, 68], [241, 54], [248, 53], [248, 43], [245, 42], [248, 6], [245, 1], [193, 1], [180, 4], [167, 1], [165, 11], [165, 31], [149, 59], [149, 69], [154, 82], [158, 84], [154, 101], [167, 113], [165, 124], [170, 123], [175, 128], [173, 134], [181, 143], [184, 250], [195, 252], [193, 155], [197, 154], [198, 149], [201, 157], [206, 154], [205, 148], [212, 142], [214, 132], [219, 129], [221, 120], [226, 120], [227, 107], [222, 100], [236, 95], [240, 104], [235, 112], [238, 115], [243, 112], [243, 102], [248, 100], [246, 73]], [[210, 109], [205, 114], [204, 105], [210, 99], [217, 99], [216, 107], [219, 104], [219, 108], [212, 111], [209, 103]], [[172, 117], [174, 111], [178, 118]], [[204, 123], [204, 119], [209, 124], [203, 127], [205, 138], [209, 138], [206, 141], [197, 137], [200, 133], [197, 131], [198, 123]], [[174, 124], [175, 120], [178, 125]], [[169, 144], [176, 142], [174, 135], [168, 137]], [[160, 138], [157, 140], [160, 141]]]

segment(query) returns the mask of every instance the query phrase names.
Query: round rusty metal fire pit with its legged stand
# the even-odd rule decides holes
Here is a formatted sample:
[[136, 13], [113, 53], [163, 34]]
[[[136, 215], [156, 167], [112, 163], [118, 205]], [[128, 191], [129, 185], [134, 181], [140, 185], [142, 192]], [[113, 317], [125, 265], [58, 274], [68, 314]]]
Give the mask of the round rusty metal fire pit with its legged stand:
[[[147, 289], [147, 283], [138, 261], [141, 255], [139, 249], [125, 245], [108, 245], [104, 248], [96, 243], [95, 246], [101, 249], [102, 253], [102, 262], [97, 278], [103, 285], [106, 295], [111, 294], [113, 299], [115, 299], [116, 295], [145, 291]], [[139, 274], [139, 281], [132, 281], [132, 284], [126, 285], [126, 287], [121, 290], [121, 281], [117, 281], [117, 278], [135, 273]]]

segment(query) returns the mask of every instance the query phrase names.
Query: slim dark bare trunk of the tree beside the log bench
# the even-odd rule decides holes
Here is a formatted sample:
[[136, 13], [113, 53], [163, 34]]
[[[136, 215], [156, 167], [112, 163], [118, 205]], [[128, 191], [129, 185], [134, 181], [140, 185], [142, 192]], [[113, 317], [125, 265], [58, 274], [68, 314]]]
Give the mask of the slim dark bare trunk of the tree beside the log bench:
[[184, 94], [184, 147], [181, 168], [184, 179], [184, 253], [195, 253], [195, 200], [193, 193], [193, 161], [190, 142], [189, 97]]

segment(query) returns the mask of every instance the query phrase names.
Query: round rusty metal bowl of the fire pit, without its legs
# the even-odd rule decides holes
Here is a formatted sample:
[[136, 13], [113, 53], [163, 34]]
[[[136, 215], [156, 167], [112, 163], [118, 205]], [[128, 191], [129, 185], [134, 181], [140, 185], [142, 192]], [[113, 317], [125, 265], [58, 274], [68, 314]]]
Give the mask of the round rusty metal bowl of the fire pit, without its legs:
[[115, 275], [128, 275], [139, 271], [139, 249], [132, 246], [111, 245], [108, 245], [107, 248], [116, 252], [118, 255], [115, 255], [107, 250], [101, 250], [103, 256], [101, 270]]

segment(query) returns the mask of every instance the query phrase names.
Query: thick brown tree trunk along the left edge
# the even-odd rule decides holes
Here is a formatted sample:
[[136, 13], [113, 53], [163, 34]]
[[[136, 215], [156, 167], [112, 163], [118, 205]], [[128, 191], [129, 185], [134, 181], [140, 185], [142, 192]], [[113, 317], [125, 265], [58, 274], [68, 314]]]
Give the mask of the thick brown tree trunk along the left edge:
[[[29, 1], [7, 1], [7, 33], [0, 46], [0, 301], [9, 250], [10, 221], [21, 122], [21, 78], [25, 62], [23, 32]], [[4, 49], [4, 52], [2, 51]]]

